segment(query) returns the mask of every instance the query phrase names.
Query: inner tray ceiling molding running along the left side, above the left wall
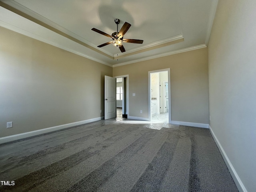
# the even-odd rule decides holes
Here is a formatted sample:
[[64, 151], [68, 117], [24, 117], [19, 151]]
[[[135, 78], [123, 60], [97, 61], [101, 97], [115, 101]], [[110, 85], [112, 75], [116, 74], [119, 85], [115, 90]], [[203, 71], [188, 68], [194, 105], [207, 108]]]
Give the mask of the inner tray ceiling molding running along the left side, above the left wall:
[[[103, 54], [111, 59], [114, 59], [113, 54], [110, 54], [109, 52], [107, 52], [104, 49], [98, 48], [96, 45], [92, 44], [88, 40], [67, 30], [66, 28], [52, 22], [51, 20], [48, 20], [44, 16], [37, 14], [36, 12], [30, 10], [29, 8], [26, 8], [25, 6], [22, 6], [21, 4], [15, 2], [13, 0], [1, 0], [0, 6], [6, 8], [6, 9], [32, 21], [32, 22], [35, 22], [45, 28], [48, 28], [49, 30], [52, 30], [66, 38], [69, 38], [70, 40], [73, 40], [74, 42], [77, 42], [77, 43], [81, 44], [82, 46], [90, 48], [100, 54]], [[8, 6], [10, 6], [10, 7], [8, 7]], [[14, 9], [18, 10], [18, 12]]]

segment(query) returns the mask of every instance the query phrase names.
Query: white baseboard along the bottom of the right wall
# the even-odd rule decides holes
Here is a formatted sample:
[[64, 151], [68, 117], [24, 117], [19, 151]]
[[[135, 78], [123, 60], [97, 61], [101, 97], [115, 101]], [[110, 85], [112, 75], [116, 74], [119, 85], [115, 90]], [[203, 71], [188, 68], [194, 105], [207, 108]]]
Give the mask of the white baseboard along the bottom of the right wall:
[[238, 190], [240, 192], [247, 192], [244, 184], [242, 183], [242, 181], [240, 180], [240, 177], [238, 176], [238, 174], [236, 173], [236, 170], [234, 169], [233, 165], [231, 164], [226, 152], [224, 151], [224, 149], [222, 148], [218, 138], [216, 137], [216, 135], [214, 134], [211, 126], [209, 125], [209, 129], [210, 129], [210, 133], [212, 134], [212, 137], [216, 143], [216, 145], [218, 146], [219, 150], [220, 150], [220, 154], [222, 155], [222, 158], [224, 159], [226, 166], [228, 167], [228, 170], [238, 188]]

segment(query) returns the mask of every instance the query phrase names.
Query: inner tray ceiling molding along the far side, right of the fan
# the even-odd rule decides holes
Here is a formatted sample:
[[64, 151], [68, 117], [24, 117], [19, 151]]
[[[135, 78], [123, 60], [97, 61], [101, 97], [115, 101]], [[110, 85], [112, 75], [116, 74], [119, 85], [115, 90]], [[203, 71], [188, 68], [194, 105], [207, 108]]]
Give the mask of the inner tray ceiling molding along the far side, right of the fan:
[[164, 43], [176, 41], [176, 40], [179, 40], [179, 39], [182, 39], [182, 38], [184, 38], [182, 35], [177, 35], [177, 36], [174, 36], [174, 37], [170, 37], [170, 38], [167, 38], [167, 39], [164, 39], [164, 40], [160, 40], [160, 41], [157, 41], [157, 42], [154, 42], [154, 43], [150, 43], [150, 44], [147, 44], [147, 45], [144, 45], [144, 46], [140, 46], [140, 47], [128, 50], [128, 51], [123, 52], [123, 53], [114, 54], [114, 58], [117, 58], [117, 57], [122, 56], [122, 55], [130, 54], [132, 52], [147, 49], [147, 48], [150, 48], [150, 47], [158, 46], [158, 45], [161, 45], [161, 44], [164, 44]]

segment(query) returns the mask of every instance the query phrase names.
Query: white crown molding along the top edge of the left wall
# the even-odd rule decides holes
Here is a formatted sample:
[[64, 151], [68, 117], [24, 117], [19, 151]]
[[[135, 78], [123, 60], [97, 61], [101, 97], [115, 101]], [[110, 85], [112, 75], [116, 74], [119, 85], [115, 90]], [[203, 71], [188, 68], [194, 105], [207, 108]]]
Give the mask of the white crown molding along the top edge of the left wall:
[[30, 37], [30, 38], [39, 40], [39, 41], [41, 41], [41, 42], [50, 44], [50, 45], [52, 45], [52, 46], [58, 47], [58, 48], [60, 48], [60, 49], [66, 50], [66, 51], [68, 51], [68, 52], [74, 53], [74, 54], [76, 54], [76, 55], [79, 55], [79, 56], [88, 58], [88, 59], [90, 59], [90, 60], [96, 61], [96, 62], [98, 62], [98, 63], [101, 63], [101, 64], [104, 64], [104, 65], [107, 65], [107, 66], [112, 67], [112, 65], [110, 65], [110, 64], [108, 64], [108, 63], [106, 63], [106, 62], [103, 62], [103, 61], [101, 61], [101, 60], [95, 59], [95, 58], [90, 57], [90, 56], [88, 56], [88, 55], [86, 55], [86, 54], [82, 54], [82, 53], [80, 53], [80, 52], [76, 52], [76, 51], [74, 51], [74, 50], [72, 50], [72, 49], [69, 49], [69, 48], [66, 48], [66, 47], [64, 47], [64, 46], [61, 46], [60, 44], [55, 44], [55, 43], [53, 43], [52, 41], [49, 41], [49, 40], [46, 40], [45, 38], [42, 38], [41, 36], [38, 36], [38, 35], [36, 35], [36, 34], [34, 34], [34, 33], [28, 32], [28, 31], [26, 31], [26, 30], [24, 30], [24, 29], [18, 28], [18, 27], [16, 27], [16, 26], [13, 26], [13, 25], [8, 24], [8, 23], [6, 23], [6, 22], [3, 22], [3, 21], [1, 21], [1, 20], [0, 20], [0, 26], [4, 27], [4, 28], [6, 28], [6, 29], [12, 30], [12, 31], [14, 31], [14, 32], [17, 32], [17, 33], [19, 33], [19, 34], [28, 36], [28, 37]]

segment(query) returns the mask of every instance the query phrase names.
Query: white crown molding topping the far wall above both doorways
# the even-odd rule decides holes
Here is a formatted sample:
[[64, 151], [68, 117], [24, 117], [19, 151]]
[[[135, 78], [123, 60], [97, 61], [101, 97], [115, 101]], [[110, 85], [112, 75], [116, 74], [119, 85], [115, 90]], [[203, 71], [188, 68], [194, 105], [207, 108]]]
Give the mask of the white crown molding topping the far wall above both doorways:
[[159, 58], [159, 57], [164, 57], [164, 56], [168, 56], [168, 55], [178, 54], [178, 53], [192, 51], [192, 50], [201, 49], [201, 48], [206, 48], [206, 45], [201, 44], [201, 45], [192, 46], [192, 47], [189, 47], [189, 48], [184, 48], [184, 49], [175, 50], [175, 51], [171, 51], [171, 52], [167, 52], [167, 53], [162, 53], [162, 54], [158, 54], [158, 55], [154, 55], [154, 56], [144, 57], [144, 58], [141, 58], [141, 59], [136, 59], [136, 60], [132, 60], [132, 61], [128, 61], [128, 62], [123, 62], [123, 63], [120, 63], [120, 64], [114, 64], [112, 67], [128, 65], [128, 64], [132, 64], [132, 63], [136, 63], [136, 62], [146, 61], [146, 60], [150, 60], [150, 59], [155, 59], [155, 58]]

